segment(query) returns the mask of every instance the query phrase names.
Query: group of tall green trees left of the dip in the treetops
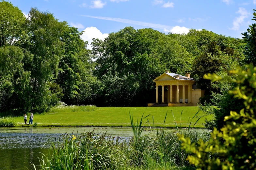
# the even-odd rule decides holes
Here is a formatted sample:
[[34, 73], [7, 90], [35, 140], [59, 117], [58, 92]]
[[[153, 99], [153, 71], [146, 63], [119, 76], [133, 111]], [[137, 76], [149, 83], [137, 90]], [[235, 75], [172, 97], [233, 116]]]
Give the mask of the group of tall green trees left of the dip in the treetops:
[[27, 19], [10, 2], [1, 1], [0, 9], [0, 111], [42, 113], [60, 100], [91, 101], [97, 81], [83, 32], [37, 8]]

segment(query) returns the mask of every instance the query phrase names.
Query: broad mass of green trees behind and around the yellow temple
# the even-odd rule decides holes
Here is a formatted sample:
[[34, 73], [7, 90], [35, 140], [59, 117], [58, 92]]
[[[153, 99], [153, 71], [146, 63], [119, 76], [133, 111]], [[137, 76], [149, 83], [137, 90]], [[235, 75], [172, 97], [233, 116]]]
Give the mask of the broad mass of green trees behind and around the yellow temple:
[[241, 39], [204, 29], [191, 29], [187, 35], [165, 35], [152, 29], [126, 27], [104, 41], [92, 42], [92, 56], [98, 63], [94, 73], [101, 81], [95, 97], [104, 101], [104, 106], [155, 102], [152, 80], [170, 70], [181, 75], [191, 72], [202, 88], [210, 88], [206, 94], [211, 101], [211, 90], [219, 93], [219, 89], [211, 87], [210, 81], [205, 83], [203, 75], [237, 66], [243, 60], [240, 48], [244, 45]]

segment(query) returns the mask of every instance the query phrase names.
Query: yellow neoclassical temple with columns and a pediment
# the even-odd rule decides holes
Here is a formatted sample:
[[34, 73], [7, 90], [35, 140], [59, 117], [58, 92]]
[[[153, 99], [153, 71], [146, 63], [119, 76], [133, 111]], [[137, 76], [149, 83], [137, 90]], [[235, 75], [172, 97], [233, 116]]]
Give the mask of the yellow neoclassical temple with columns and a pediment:
[[199, 98], [204, 96], [204, 90], [194, 85], [195, 79], [190, 78], [190, 73], [182, 76], [166, 70], [153, 82], [156, 85], [155, 103], [148, 103], [148, 106], [197, 106]]

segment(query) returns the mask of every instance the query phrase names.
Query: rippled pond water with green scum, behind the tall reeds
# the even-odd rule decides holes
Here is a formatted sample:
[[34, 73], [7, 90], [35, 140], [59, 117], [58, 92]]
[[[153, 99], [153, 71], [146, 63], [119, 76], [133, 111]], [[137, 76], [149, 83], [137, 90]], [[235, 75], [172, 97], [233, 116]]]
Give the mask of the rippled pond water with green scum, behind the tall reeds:
[[[49, 142], [59, 140], [64, 133], [82, 133], [87, 131], [106, 132], [111, 136], [129, 137], [133, 135], [131, 128], [104, 127], [51, 127], [51, 128], [0, 128], [0, 170], [35, 169], [31, 162], [39, 165], [42, 154], [47, 155]], [[144, 133], [150, 131], [145, 129]], [[175, 129], [166, 129], [174, 131]], [[197, 130], [205, 131], [205, 130]], [[37, 168], [38, 169], [38, 168]]]

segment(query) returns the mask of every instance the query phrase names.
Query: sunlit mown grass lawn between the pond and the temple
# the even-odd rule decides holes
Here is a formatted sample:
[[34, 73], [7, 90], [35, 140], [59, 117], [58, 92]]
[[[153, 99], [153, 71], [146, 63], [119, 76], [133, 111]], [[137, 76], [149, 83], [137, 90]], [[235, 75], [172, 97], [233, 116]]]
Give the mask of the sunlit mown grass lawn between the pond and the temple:
[[[146, 111], [145, 111], [146, 109]], [[38, 126], [106, 126], [106, 127], [130, 127], [130, 116], [129, 110], [133, 113], [134, 120], [137, 117], [148, 116], [151, 126], [153, 126], [152, 116], [154, 118], [155, 127], [163, 127], [166, 112], [166, 122], [165, 127], [175, 127], [175, 122], [171, 113], [173, 111], [175, 120], [178, 127], [180, 123], [182, 127], [188, 127], [189, 122], [192, 117], [198, 112], [198, 107], [98, 107], [95, 111], [71, 111], [70, 109], [59, 109], [53, 110], [51, 112], [34, 115], [33, 123], [37, 122]], [[181, 112], [183, 110], [182, 116]], [[198, 116], [202, 115], [200, 112]], [[28, 115], [28, 119], [29, 119]], [[181, 121], [180, 121], [181, 116]], [[211, 116], [201, 117], [197, 124], [194, 126], [196, 128], [203, 128], [202, 123], [204, 119], [210, 119]], [[192, 120], [191, 126], [197, 121], [198, 118]], [[28, 126], [24, 125], [23, 117], [15, 117], [14, 121], [17, 123], [16, 126]], [[143, 124], [146, 124], [146, 119], [144, 119]], [[31, 126], [31, 125], [30, 125]]]

